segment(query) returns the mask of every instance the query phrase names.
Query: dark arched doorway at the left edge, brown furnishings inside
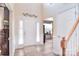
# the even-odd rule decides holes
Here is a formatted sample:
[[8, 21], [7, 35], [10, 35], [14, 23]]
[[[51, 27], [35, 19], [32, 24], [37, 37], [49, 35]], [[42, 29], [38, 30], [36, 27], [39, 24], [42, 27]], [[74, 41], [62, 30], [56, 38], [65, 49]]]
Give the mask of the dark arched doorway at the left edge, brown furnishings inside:
[[9, 9], [5, 4], [0, 5], [0, 55], [9, 56]]

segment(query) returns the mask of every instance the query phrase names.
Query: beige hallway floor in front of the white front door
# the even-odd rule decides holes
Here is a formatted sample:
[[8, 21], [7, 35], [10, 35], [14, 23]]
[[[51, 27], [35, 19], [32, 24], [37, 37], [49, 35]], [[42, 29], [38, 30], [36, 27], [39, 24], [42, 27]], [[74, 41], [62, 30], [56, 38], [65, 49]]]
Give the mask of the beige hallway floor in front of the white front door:
[[53, 40], [46, 40], [45, 45], [35, 45], [17, 49], [15, 56], [54, 56]]

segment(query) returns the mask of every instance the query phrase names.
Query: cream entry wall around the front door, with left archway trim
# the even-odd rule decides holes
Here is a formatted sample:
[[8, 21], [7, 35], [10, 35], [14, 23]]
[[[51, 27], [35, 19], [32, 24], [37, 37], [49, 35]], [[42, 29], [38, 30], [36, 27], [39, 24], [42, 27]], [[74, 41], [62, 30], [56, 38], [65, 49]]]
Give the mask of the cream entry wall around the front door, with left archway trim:
[[[13, 4], [13, 3], [6, 3], [6, 6], [9, 8], [10, 11], [10, 37], [9, 37], [9, 49], [10, 49], [10, 55], [14, 55], [15, 48], [18, 48], [19, 45], [19, 21], [20, 20], [27, 20], [27, 18], [24, 18], [22, 13], [27, 12], [30, 14], [35, 14], [38, 16], [38, 21], [40, 22], [40, 43], [43, 43], [43, 29], [42, 29], [42, 4]], [[31, 19], [31, 18], [30, 18]], [[32, 19], [34, 20], [34, 19]], [[36, 20], [34, 20], [36, 21]], [[27, 45], [23, 44], [22, 46]]]

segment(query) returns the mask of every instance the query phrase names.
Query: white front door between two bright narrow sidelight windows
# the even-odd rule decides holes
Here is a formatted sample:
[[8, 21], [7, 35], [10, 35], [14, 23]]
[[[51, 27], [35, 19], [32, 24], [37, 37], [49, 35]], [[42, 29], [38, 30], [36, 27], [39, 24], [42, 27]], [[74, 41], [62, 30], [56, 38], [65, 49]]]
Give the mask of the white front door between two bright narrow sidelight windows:
[[37, 19], [33, 17], [26, 17], [23, 20], [24, 44], [36, 44]]

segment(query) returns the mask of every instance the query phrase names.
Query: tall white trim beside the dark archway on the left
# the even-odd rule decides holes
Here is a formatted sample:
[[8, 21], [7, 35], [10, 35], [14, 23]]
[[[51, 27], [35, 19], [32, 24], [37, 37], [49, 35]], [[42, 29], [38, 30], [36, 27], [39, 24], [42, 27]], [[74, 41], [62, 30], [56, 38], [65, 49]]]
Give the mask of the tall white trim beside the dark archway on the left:
[[15, 48], [13, 48], [13, 44], [15, 43], [14, 37], [14, 13], [13, 13], [13, 6], [9, 3], [5, 3], [6, 7], [9, 9], [9, 55], [14, 55]]

